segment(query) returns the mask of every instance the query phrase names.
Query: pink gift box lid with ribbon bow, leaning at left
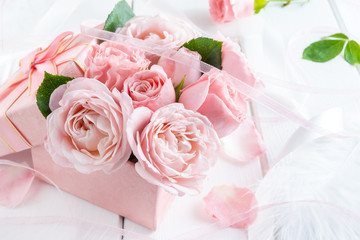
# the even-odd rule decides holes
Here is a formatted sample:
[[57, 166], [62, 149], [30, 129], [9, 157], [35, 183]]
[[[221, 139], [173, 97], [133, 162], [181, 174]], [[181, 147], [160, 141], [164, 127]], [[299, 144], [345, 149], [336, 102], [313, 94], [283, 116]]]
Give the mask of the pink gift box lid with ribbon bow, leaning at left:
[[0, 156], [43, 143], [46, 120], [36, 105], [36, 92], [44, 72], [82, 76], [90, 41], [84, 35], [60, 34], [47, 48], [23, 58], [19, 70], [0, 86]]

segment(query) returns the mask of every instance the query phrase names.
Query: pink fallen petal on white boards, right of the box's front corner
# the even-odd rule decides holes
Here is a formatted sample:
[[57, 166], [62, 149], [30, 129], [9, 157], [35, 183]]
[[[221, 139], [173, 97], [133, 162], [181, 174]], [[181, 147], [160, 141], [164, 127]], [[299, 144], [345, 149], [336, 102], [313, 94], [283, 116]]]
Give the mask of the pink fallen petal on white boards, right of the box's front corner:
[[257, 201], [247, 188], [215, 186], [203, 201], [206, 212], [224, 225], [246, 228], [256, 219]]

